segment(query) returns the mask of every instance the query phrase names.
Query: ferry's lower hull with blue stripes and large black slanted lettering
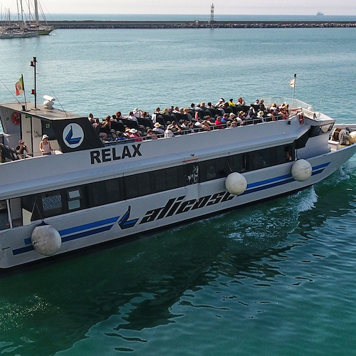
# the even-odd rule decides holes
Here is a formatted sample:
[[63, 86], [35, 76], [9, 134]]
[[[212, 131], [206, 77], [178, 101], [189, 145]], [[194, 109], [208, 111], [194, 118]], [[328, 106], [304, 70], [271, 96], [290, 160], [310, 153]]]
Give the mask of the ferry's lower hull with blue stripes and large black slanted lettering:
[[[313, 174], [305, 182], [293, 179], [290, 169], [294, 162], [288, 162], [278, 167], [246, 172], [244, 177], [248, 186], [239, 196], [227, 192], [225, 178], [221, 178], [53, 216], [46, 219], [46, 223], [51, 224], [61, 234], [62, 244], [57, 254], [75, 251], [162, 227], [169, 228], [173, 224], [182, 224], [192, 219], [204, 219], [224, 210], [304, 189], [333, 174], [355, 152], [356, 145], [351, 145], [308, 158], [313, 167]], [[0, 268], [46, 258], [38, 253], [31, 243], [33, 229], [40, 222], [0, 232]]]

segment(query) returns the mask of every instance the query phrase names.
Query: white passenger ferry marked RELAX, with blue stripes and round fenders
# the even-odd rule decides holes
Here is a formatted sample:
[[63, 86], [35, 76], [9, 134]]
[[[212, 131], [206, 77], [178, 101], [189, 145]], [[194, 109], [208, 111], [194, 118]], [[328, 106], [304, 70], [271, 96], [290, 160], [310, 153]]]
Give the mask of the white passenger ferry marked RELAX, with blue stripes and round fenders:
[[[272, 103], [288, 103], [285, 120], [110, 143], [88, 117], [0, 104], [0, 268], [295, 192], [355, 154], [356, 125], [298, 100]], [[54, 154], [39, 152], [43, 135]]]

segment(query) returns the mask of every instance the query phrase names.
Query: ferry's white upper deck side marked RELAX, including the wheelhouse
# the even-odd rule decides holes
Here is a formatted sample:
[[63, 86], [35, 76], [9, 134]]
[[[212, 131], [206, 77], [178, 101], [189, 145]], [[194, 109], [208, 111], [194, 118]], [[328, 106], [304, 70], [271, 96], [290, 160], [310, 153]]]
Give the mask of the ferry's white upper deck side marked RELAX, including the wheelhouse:
[[[315, 115], [315, 112], [298, 107], [296, 115], [290, 115], [288, 120], [261, 122], [159, 140], [123, 140], [103, 145], [87, 117], [56, 109], [49, 111], [40, 107], [39, 110], [23, 111], [20, 108], [21, 105], [14, 103], [0, 105], [1, 120], [5, 119], [9, 127], [12, 125], [11, 129], [17, 129], [17, 132], [12, 134], [5, 132], [7, 136], [3, 138], [9, 142], [15, 137], [13, 142], [17, 145], [19, 138], [26, 134], [26, 143], [32, 140], [33, 145], [37, 140], [39, 145], [41, 135], [48, 132], [52, 137], [51, 144], [57, 145], [56, 149], [61, 154], [33, 155], [34, 157], [1, 164], [0, 173], [6, 179], [1, 181], [0, 200], [20, 197], [29, 192], [34, 194], [43, 189], [59, 189], [67, 187], [68, 184], [98, 182], [124, 174], [147, 172], [150, 169], [169, 167], [171, 164], [188, 164], [199, 159], [287, 145], [307, 134], [313, 125], [333, 125], [335, 122], [323, 114]], [[21, 125], [6, 120], [15, 110], [21, 113]], [[300, 125], [298, 117], [301, 110], [305, 115], [303, 125]], [[28, 125], [28, 122], [31, 125]], [[73, 144], [70, 140], [68, 142], [69, 127], [75, 129], [72, 137], [83, 135], [79, 146], [77, 141]], [[77, 129], [81, 129], [81, 133], [78, 133]], [[83, 145], [84, 139], [88, 142], [86, 145]], [[320, 150], [326, 152], [327, 146], [326, 142], [325, 147]]]

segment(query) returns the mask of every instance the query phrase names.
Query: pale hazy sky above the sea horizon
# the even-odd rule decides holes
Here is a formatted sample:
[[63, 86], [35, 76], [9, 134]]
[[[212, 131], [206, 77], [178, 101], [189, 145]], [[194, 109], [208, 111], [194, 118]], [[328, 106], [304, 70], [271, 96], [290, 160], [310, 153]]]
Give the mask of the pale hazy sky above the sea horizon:
[[[20, 0], [19, 0], [20, 1]], [[22, 0], [26, 4], [28, 0]], [[31, 1], [31, 0], [30, 0]], [[41, 0], [47, 14], [356, 15], [355, 0]], [[0, 0], [16, 14], [16, 0]], [[24, 5], [23, 5], [24, 6]]]

